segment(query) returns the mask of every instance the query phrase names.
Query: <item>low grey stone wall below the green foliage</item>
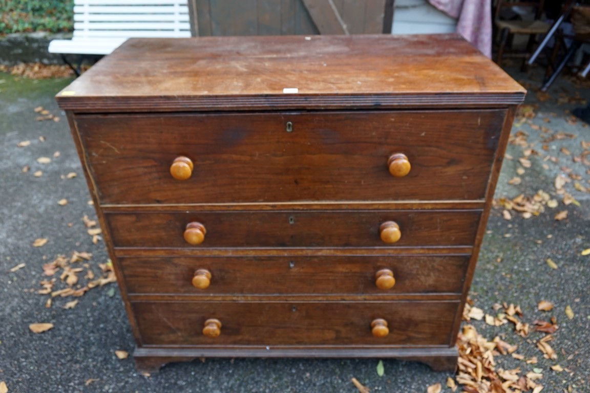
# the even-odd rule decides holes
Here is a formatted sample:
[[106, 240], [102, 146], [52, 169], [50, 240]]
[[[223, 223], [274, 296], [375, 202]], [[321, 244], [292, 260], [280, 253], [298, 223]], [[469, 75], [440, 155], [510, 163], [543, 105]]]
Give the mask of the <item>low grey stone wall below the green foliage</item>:
[[21, 62], [63, 64], [61, 56], [49, 53], [47, 47], [52, 39], [68, 38], [71, 38], [71, 33], [15, 33], [0, 37], [0, 64], [15, 65]]

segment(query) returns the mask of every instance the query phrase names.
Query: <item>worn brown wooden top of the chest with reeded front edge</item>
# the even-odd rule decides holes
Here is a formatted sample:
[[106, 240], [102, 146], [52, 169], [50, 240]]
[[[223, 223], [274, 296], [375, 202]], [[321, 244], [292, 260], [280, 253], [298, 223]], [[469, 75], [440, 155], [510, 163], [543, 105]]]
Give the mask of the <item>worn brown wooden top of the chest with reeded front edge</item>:
[[458, 35], [313, 35], [129, 39], [57, 100], [84, 112], [477, 107], [525, 93]]

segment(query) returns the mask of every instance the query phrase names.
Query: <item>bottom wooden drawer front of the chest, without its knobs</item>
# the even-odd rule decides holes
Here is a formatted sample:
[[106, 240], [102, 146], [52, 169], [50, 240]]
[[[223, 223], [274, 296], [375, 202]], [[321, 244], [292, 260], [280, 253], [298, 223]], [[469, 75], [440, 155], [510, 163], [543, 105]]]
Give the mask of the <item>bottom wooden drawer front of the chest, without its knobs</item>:
[[[458, 302], [137, 302], [149, 345], [449, 345]], [[202, 333], [221, 322], [219, 336]], [[376, 338], [371, 322], [385, 319]]]

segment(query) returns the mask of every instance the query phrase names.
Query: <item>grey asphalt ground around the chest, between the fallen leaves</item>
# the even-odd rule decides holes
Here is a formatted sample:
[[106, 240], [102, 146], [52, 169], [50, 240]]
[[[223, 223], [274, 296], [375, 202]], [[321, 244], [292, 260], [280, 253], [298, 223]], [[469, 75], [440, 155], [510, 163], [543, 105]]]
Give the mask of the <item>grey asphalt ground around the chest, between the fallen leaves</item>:
[[[528, 88], [539, 84], [540, 71], [533, 70], [532, 75], [513, 73]], [[70, 256], [74, 250], [89, 252], [93, 257], [87, 263], [99, 274], [99, 263], [108, 258], [104, 243], [93, 244], [82, 220], [84, 215], [95, 219], [96, 214], [88, 204], [89, 191], [67, 122], [53, 98], [69, 82], [33, 81], [0, 73], [0, 381], [8, 392], [352, 393], [357, 391], [350, 382], [353, 377], [373, 392], [426, 392], [437, 382], [444, 387], [452, 373], [392, 359], [383, 361], [383, 377], [376, 372], [378, 359], [207, 359], [170, 364], [159, 374], [146, 377], [135, 370], [131, 355], [119, 359], [114, 354], [117, 350], [131, 354], [134, 346], [116, 284], [91, 289], [80, 298], [57, 296], [47, 308], [50, 296], [35, 293], [41, 289], [40, 280], [47, 279], [44, 263], [60, 254]], [[540, 369], [543, 378], [537, 382], [545, 387], [543, 392], [568, 388], [590, 392], [590, 256], [581, 255], [590, 248], [590, 193], [576, 190], [574, 181], [566, 183], [565, 190], [579, 206], [565, 206], [555, 189], [555, 177], [569, 170], [590, 188], [589, 167], [572, 160], [584, 151], [581, 140], [590, 142], [590, 128], [572, 121], [568, 112], [588, 98], [588, 88], [565, 78], [548, 96], [534, 91], [527, 96], [527, 104], [538, 105], [536, 117], [530, 124], [515, 126], [513, 133], [524, 131], [526, 143], [539, 155], [530, 155], [530, 168], [517, 174], [522, 167], [517, 158], [523, 157], [523, 147], [510, 144], [507, 153], [512, 160], [504, 163], [496, 197], [532, 196], [543, 190], [558, 200], [559, 206], [529, 219], [512, 212], [511, 220], [503, 218], [503, 209], [493, 209], [471, 291], [474, 306], [485, 313], [494, 313], [494, 303], [507, 302], [519, 305], [522, 319], [528, 323], [555, 316], [559, 330], [551, 345], [558, 353], [556, 360], [543, 358], [535, 345], [544, 333], [531, 332], [522, 338], [514, 333], [511, 323], [490, 326], [471, 321], [487, 339], [500, 336], [518, 345], [519, 354], [537, 356], [535, 365], [498, 356], [497, 367], [520, 367], [522, 374]], [[40, 106], [61, 117], [60, 121], [37, 121], [40, 113], [34, 108]], [[575, 138], [544, 143], [547, 134], [541, 132], [542, 126]], [[17, 146], [27, 140], [31, 142], [28, 146]], [[548, 150], [543, 150], [543, 144], [548, 144]], [[557, 157], [558, 162], [546, 160], [547, 156]], [[51, 162], [38, 163], [38, 157], [48, 157]], [[25, 166], [30, 167], [26, 173], [22, 171]], [[40, 177], [35, 177], [37, 171], [42, 171]], [[71, 172], [77, 176], [65, 177]], [[520, 184], [508, 184], [515, 176], [520, 177]], [[60, 206], [61, 199], [68, 203]], [[561, 210], [567, 210], [568, 216], [557, 221], [554, 216]], [[33, 247], [39, 238], [48, 241]], [[557, 269], [548, 266], [548, 258], [555, 261]], [[24, 267], [10, 271], [22, 263]], [[59, 278], [57, 281], [54, 290], [64, 288]], [[74, 299], [79, 300], [74, 308], [63, 308]], [[555, 308], [537, 311], [540, 300], [553, 302]], [[572, 319], [565, 314], [566, 306], [572, 308]], [[53, 323], [54, 328], [35, 334], [29, 325], [38, 322]], [[571, 372], [549, 368], [555, 364]]]

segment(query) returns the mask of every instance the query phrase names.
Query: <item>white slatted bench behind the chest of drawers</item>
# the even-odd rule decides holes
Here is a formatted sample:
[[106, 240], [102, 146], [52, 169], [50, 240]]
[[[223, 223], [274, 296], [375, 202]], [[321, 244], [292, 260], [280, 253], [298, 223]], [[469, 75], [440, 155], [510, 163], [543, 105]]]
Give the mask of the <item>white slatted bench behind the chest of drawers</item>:
[[108, 55], [135, 37], [191, 37], [187, 0], [74, 0], [73, 38], [54, 39], [48, 50], [70, 65], [65, 54]]

